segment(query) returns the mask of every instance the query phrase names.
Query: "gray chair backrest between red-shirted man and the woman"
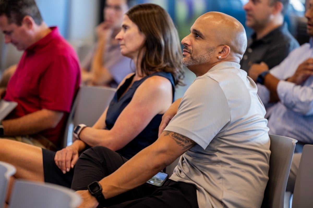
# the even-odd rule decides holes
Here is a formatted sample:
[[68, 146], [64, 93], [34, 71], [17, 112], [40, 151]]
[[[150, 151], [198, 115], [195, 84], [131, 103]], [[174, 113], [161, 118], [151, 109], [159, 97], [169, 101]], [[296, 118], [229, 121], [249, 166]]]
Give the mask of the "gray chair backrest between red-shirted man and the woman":
[[65, 126], [63, 147], [73, 142], [73, 129], [84, 123], [92, 126], [110, 104], [116, 89], [104, 86], [81, 86]]

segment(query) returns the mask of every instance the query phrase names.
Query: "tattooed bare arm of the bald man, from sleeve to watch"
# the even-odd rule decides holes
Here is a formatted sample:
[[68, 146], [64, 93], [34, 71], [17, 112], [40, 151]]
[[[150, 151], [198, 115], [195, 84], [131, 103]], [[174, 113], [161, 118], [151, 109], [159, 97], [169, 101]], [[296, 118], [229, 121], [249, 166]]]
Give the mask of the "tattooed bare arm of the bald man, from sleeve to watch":
[[163, 132], [155, 143], [100, 181], [103, 195], [110, 198], [145, 183], [194, 145], [191, 139], [181, 134]]

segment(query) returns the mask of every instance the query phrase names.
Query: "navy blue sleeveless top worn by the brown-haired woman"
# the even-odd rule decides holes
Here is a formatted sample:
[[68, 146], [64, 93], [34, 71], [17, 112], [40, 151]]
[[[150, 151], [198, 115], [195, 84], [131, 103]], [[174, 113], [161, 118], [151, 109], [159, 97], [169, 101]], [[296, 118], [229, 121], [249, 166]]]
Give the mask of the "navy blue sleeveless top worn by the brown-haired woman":
[[[131, 85], [135, 75], [132, 75], [130, 78], [125, 80], [125, 83], [121, 85], [119, 89], [117, 89], [112, 101], [110, 102], [107, 114], [106, 114], [106, 129], [111, 129], [117, 119], [117, 117], [121, 114], [122, 110], [129, 104], [131, 101], [136, 89], [142, 82], [144, 82], [147, 78], [151, 76], [162, 76], [170, 80], [172, 83], [172, 92], [173, 92], [173, 100], [174, 100], [174, 93], [175, 93], [175, 85], [174, 79], [171, 73], [169, 72], [155, 72], [151, 75], [148, 75], [141, 80], [134, 81]], [[127, 90], [127, 88], [131, 85], [128, 91], [121, 97], [121, 95]], [[140, 152], [142, 149], [146, 148], [150, 144], [156, 141], [158, 138], [158, 131], [159, 125], [162, 120], [163, 114], [157, 114], [155, 117], [152, 118], [150, 123], [146, 126], [145, 129], [141, 133], [138, 134], [136, 138], [131, 140], [125, 147], [121, 148], [120, 150], [116, 151], [120, 153], [126, 159], [130, 159], [133, 157], [137, 152]]]

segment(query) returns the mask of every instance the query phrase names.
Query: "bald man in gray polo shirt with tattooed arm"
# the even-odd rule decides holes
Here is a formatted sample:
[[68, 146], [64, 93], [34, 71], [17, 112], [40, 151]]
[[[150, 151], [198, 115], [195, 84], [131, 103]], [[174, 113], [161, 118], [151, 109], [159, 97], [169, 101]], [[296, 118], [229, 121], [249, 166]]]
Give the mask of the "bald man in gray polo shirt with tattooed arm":
[[[72, 183], [82, 190], [81, 207], [261, 206], [269, 129], [257, 87], [239, 68], [247, 46], [244, 27], [226, 14], [208, 12], [182, 44], [182, 64], [196, 80], [164, 115], [158, 140], [130, 160], [99, 147], [81, 155]], [[179, 156], [163, 186], [146, 185]], [[94, 172], [98, 177], [90, 177]]]

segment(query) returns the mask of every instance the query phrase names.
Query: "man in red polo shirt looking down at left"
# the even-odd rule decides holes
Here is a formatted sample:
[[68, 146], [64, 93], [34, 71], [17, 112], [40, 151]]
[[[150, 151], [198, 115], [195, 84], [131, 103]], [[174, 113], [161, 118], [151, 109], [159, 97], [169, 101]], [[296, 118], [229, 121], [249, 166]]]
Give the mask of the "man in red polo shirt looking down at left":
[[0, 137], [55, 149], [80, 85], [78, 57], [58, 28], [43, 22], [34, 0], [0, 0], [0, 30], [5, 43], [24, 50], [2, 96], [18, 106], [2, 121]]

